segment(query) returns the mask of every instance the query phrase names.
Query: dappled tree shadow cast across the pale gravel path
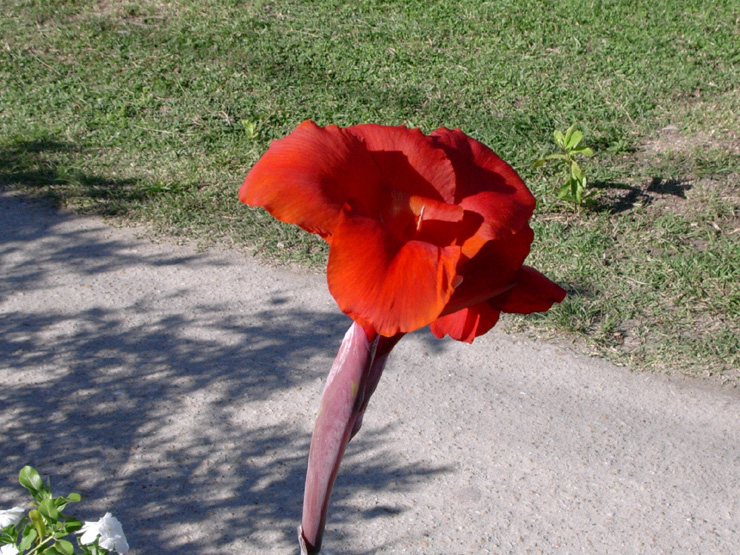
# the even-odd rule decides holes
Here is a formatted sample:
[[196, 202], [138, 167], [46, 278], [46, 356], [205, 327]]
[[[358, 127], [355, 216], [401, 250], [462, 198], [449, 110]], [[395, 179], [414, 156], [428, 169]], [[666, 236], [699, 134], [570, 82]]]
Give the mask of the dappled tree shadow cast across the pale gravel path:
[[[0, 506], [25, 500], [15, 476], [31, 464], [53, 478], [55, 493], [83, 495], [73, 514], [118, 516], [135, 553], [293, 545], [314, 390], [346, 318], [302, 310], [279, 291], [245, 313], [209, 299], [179, 310], [175, 290], [156, 310], [103, 299], [47, 306], [45, 295], [59, 295], [49, 284], [63, 279], [47, 267], [84, 276], [80, 299], [94, 294], [82, 285], [88, 278], [134, 264], [219, 268], [205, 257], [139, 254], [17, 198], [0, 197], [0, 216]], [[26, 307], [19, 295], [37, 304]], [[397, 507], [358, 511], [355, 492], [413, 489], [447, 470], [399, 462], [382, 449], [383, 435], [366, 428], [350, 445], [330, 521], [392, 515]]]

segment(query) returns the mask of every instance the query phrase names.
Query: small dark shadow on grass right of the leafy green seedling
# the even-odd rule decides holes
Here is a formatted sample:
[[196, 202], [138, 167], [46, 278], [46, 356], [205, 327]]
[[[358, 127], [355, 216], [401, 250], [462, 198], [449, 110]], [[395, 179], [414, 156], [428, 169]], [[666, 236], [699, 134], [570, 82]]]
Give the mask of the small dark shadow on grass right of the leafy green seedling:
[[613, 181], [594, 181], [590, 187], [602, 193], [594, 199], [591, 208], [596, 212], [610, 214], [627, 212], [638, 204], [652, 204], [659, 196], [670, 195], [685, 199], [686, 191], [691, 189], [686, 181], [662, 177], [653, 177], [646, 188]]

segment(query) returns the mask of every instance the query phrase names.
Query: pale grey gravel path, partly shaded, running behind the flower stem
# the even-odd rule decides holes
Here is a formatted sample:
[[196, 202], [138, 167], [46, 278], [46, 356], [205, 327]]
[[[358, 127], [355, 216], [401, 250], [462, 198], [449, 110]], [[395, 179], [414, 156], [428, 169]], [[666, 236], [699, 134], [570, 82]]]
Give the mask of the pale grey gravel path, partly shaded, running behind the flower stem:
[[[349, 320], [323, 277], [0, 195], [0, 509], [31, 464], [133, 555], [290, 553]], [[740, 552], [740, 393], [492, 332], [399, 344], [331, 553]]]

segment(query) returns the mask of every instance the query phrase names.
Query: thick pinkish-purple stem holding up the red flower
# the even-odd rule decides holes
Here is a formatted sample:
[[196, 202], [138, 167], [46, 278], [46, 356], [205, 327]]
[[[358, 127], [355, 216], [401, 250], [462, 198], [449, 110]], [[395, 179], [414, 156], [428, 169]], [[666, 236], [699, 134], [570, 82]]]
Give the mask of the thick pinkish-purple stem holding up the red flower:
[[344, 450], [359, 431], [362, 415], [378, 384], [388, 353], [400, 339], [400, 336], [380, 337], [373, 332], [370, 335], [368, 339], [356, 323], [347, 330], [321, 395], [308, 454], [303, 519], [299, 529], [301, 553], [306, 555], [321, 549], [329, 498]]

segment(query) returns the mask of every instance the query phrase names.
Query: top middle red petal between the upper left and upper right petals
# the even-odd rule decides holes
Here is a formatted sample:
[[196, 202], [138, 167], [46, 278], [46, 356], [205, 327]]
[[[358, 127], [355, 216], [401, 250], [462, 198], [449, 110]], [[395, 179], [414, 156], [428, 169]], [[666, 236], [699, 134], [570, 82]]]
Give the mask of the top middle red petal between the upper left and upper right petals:
[[371, 123], [346, 130], [365, 143], [388, 185], [411, 195], [453, 202], [452, 164], [444, 150], [421, 131]]

